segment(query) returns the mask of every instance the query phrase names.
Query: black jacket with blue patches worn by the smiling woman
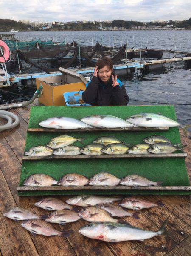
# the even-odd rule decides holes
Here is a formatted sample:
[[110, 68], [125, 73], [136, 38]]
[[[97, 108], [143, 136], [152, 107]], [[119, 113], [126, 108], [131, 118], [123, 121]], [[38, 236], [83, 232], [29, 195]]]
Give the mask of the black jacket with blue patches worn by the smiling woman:
[[93, 106], [120, 106], [127, 105], [129, 97], [124, 84], [117, 80], [119, 85], [112, 86], [112, 78], [105, 85], [100, 78], [93, 76], [92, 80], [86, 84], [87, 88], [82, 93], [82, 100]]

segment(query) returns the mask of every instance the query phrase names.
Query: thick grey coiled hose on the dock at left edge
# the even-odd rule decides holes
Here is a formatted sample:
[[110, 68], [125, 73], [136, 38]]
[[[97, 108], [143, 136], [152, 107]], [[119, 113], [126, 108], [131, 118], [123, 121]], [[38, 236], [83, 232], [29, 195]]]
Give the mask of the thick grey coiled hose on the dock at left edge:
[[6, 106], [0, 106], [0, 117], [6, 119], [8, 122], [4, 125], [0, 125], [0, 132], [7, 130], [7, 129], [13, 129], [16, 127], [20, 121], [17, 115], [6, 111], [5, 109], [13, 109], [21, 106], [28, 106], [31, 104], [40, 94], [42, 91], [42, 86], [39, 87], [39, 89], [36, 90], [33, 97], [29, 101], [25, 101], [22, 103], [12, 104], [12, 105], [6, 105]]

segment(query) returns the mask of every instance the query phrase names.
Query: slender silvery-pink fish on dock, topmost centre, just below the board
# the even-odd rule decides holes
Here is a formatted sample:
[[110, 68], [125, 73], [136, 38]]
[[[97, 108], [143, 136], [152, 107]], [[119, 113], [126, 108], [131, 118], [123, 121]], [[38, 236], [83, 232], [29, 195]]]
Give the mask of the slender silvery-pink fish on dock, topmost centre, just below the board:
[[110, 197], [110, 196], [74, 196], [73, 198], [67, 199], [67, 204], [78, 205], [78, 206], [94, 206], [96, 204], [111, 203], [119, 201], [123, 197]]

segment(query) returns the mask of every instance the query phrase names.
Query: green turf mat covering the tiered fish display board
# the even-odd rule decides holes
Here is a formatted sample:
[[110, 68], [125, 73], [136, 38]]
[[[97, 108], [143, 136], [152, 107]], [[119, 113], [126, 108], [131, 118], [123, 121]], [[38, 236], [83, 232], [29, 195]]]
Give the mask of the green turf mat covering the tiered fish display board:
[[[177, 120], [174, 106], [32, 106], [28, 128], [40, 128], [39, 122], [54, 116], [68, 116], [81, 119], [87, 115], [108, 114], [125, 119], [130, 115], [141, 112], [151, 112], [165, 115]], [[41, 127], [42, 128], [42, 127]], [[84, 144], [90, 144], [101, 136], [114, 136], [126, 144], [138, 144], [149, 135], [163, 135], [172, 143], [180, 143], [180, 134], [177, 127], [168, 131], [134, 131], [134, 132], [27, 132], [25, 151], [31, 147], [46, 145], [51, 138], [62, 134], [69, 134], [76, 138], [85, 138]], [[81, 147], [77, 141], [73, 145]], [[177, 151], [178, 152], [178, 151]], [[125, 159], [62, 159], [23, 161], [19, 186], [34, 173], [45, 173], [59, 180], [66, 173], [80, 173], [90, 178], [101, 171], [109, 172], [118, 178], [137, 174], [152, 181], [163, 181], [164, 186], [189, 186], [188, 174], [184, 158], [125, 158]], [[176, 194], [185, 195], [189, 191], [159, 191], [159, 190], [57, 190], [57, 191], [20, 191], [19, 196], [34, 195], [78, 195], [78, 194]]]

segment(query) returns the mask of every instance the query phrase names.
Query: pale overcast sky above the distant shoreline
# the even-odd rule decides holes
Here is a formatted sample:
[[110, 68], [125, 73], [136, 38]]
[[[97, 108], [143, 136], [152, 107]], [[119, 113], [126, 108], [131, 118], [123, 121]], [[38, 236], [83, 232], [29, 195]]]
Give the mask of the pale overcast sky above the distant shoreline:
[[30, 21], [187, 20], [191, 0], [0, 0], [0, 18]]

